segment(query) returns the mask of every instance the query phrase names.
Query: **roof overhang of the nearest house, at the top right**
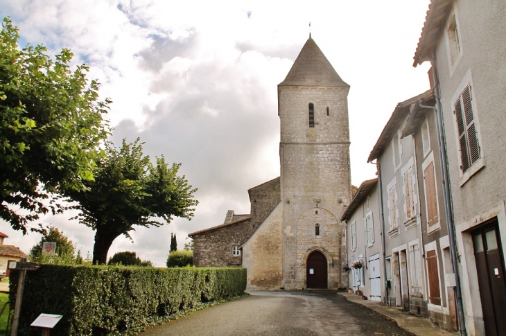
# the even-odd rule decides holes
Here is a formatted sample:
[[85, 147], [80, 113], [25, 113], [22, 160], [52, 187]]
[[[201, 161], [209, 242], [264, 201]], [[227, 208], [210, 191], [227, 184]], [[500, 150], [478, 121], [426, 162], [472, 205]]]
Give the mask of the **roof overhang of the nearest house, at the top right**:
[[448, 19], [454, 1], [455, 0], [430, 1], [425, 17], [424, 28], [421, 29], [417, 51], [415, 51], [415, 57], [413, 58], [415, 60], [413, 67], [417, 67], [418, 64], [422, 64], [426, 60], [433, 58], [437, 40]]

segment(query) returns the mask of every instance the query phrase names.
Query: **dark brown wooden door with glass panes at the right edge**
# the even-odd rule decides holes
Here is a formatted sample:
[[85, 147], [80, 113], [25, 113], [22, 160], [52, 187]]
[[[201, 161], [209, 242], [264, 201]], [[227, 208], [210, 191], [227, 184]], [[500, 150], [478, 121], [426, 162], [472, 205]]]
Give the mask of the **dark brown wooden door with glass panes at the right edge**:
[[506, 272], [497, 220], [472, 235], [485, 333], [506, 335]]

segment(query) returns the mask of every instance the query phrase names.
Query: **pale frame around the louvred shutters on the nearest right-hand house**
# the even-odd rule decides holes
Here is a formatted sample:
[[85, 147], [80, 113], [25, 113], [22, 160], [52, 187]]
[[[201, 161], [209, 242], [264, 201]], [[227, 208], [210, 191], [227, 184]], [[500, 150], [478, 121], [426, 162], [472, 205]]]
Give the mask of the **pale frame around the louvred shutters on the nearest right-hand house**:
[[[462, 95], [462, 92], [464, 89], [466, 89], [467, 85], [471, 85], [471, 106], [473, 108], [473, 121], [475, 125], [476, 130], [476, 137], [478, 139], [478, 145], [480, 146], [480, 159], [475, 161], [474, 163], [471, 163], [471, 166], [467, 168], [467, 170], [462, 173], [462, 153], [460, 152], [460, 137], [459, 137], [459, 128], [457, 125], [457, 117], [455, 114], [453, 114], [453, 110], [455, 107], [455, 103], [457, 103], [457, 100], [460, 99], [460, 96]], [[476, 106], [476, 96], [474, 94], [474, 85], [473, 80], [471, 78], [471, 69], [469, 69], [466, 72], [466, 75], [464, 78], [462, 78], [462, 81], [460, 82], [460, 85], [457, 87], [457, 90], [455, 91], [455, 94], [453, 94], [453, 97], [451, 98], [451, 111], [453, 115], [453, 130], [455, 134], [455, 145], [456, 152], [457, 152], [457, 164], [458, 164], [458, 171], [459, 171], [459, 184], [462, 187], [474, 174], [478, 173], [478, 170], [485, 167], [485, 151], [483, 150], [483, 142], [481, 139], [481, 132], [480, 132], [480, 121], [478, 118], [478, 107]], [[468, 142], [469, 145], [469, 142]]]

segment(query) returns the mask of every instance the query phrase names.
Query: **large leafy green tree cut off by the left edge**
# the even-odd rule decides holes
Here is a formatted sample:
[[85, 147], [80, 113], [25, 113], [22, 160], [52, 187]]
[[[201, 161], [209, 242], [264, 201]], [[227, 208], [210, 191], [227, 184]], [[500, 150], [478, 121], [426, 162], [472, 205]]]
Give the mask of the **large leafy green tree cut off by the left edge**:
[[0, 219], [15, 230], [39, 215], [61, 211], [44, 202], [59, 188], [83, 190], [93, 179], [98, 143], [107, 138], [110, 100], [98, 100], [98, 82], [83, 64], [71, 71], [68, 49], [18, 46], [6, 18], [0, 31]]

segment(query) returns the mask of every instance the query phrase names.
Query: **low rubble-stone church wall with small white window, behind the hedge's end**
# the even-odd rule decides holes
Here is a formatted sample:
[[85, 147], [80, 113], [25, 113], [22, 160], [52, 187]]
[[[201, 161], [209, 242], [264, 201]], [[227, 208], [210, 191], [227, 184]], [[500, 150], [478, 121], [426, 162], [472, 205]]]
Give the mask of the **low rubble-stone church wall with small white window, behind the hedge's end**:
[[232, 256], [232, 247], [241, 246], [250, 238], [250, 220], [240, 220], [193, 235], [195, 267], [240, 266], [241, 256]]

